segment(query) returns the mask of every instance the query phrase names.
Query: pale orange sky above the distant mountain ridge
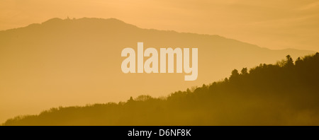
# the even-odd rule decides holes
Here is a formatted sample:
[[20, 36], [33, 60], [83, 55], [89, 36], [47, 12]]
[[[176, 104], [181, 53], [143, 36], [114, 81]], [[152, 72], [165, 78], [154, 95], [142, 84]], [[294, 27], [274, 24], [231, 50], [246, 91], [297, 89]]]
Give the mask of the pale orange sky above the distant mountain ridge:
[[316, 0], [0, 1], [0, 30], [67, 16], [118, 18], [140, 28], [221, 35], [270, 49], [319, 51]]

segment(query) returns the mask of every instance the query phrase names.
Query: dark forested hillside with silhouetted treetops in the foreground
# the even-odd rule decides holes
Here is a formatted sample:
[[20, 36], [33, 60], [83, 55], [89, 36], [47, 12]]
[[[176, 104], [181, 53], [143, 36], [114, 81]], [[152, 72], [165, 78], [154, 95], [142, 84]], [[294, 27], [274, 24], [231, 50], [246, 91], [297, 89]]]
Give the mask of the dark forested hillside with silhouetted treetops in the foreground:
[[4, 125], [319, 125], [319, 53], [235, 69], [223, 81], [167, 98], [58, 107]]

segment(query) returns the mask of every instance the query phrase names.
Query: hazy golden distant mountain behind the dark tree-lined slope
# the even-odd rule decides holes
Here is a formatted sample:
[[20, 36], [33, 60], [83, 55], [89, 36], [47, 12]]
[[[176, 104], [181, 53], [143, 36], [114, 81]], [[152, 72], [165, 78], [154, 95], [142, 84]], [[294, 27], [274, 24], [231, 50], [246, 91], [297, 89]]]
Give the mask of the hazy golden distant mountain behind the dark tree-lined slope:
[[[197, 47], [198, 78], [184, 74], [123, 74], [125, 47]], [[142, 29], [117, 19], [52, 18], [24, 28], [0, 31], [0, 120], [52, 106], [85, 105], [155, 97], [218, 81], [232, 69], [272, 64], [290, 54], [312, 51], [271, 50], [220, 37]], [[2, 121], [0, 121], [2, 122]]]

